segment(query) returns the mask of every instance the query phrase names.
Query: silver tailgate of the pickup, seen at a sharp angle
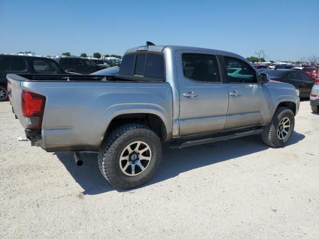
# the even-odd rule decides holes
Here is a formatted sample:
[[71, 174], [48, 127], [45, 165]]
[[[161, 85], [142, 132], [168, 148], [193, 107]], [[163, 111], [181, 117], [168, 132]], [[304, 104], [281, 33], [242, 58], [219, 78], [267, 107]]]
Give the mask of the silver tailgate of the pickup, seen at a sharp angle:
[[23, 117], [21, 112], [22, 89], [21, 89], [20, 83], [23, 78], [14, 74], [7, 74], [6, 78], [8, 80], [8, 94], [9, 94], [9, 101], [12, 105], [12, 111], [14, 115], [20, 120], [23, 127], [25, 127], [25, 122], [23, 122]]

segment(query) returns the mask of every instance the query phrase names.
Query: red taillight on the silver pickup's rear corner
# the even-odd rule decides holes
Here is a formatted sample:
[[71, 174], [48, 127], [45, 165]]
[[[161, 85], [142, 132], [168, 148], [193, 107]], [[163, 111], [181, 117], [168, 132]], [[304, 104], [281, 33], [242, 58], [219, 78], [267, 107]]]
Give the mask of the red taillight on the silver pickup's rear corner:
[[45, 96], [33, 92], [21, 92], [21, 111], [27, 128], [41, 128], [45, 99]]

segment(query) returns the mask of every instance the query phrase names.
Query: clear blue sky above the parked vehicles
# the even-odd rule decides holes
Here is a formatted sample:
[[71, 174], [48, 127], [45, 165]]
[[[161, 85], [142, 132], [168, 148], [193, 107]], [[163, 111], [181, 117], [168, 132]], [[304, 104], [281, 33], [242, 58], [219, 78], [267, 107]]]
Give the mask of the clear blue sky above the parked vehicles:
[[152, 41], [319, 56], [319, 0], [0, 0], [0, 52], [123, 55]]

